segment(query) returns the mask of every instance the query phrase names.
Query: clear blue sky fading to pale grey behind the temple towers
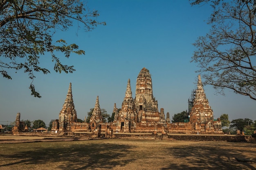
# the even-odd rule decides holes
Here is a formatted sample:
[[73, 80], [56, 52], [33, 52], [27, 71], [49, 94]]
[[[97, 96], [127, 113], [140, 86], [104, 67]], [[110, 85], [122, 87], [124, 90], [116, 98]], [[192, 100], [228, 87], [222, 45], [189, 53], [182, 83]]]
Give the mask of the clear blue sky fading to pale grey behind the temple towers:
[[[70, 82], [79, 119], [94, 107], [97, 95], [100, 107], [111, 115], [114, 103], [121, 108], [129, 78], [135, 97], [137, 75], [143, 67], [150, 71], [159, 111], [164, 108], [165, 115], [169, 112], [172, 117], [188, 109], [198, 76], [196, 64], [190, 63], [192, 43], [209, 31], [211, 8], [191, 7], [188, 0], [88, 0], [88, 7], [98, 10], [98, 19], [107, 25], [85, 32], [74, 24], [54, 35], [85, 51], [83, 56], [63, 58], [76, 71], [55, 73], [51, 57], [43, 56], [40, 62], [51, 74], [36, 74], [33, 84], [40, 99], [30, 95], [26, 74], [11, 73], [12, 80], [0, 77], [0, 124], [15, 121], [20, 112], [20, 119], [42, 119], [48, 125], [58, 119]], [[249, 97], [230, 90], [226, 96], [216, 95], [212, 86], [204, 90], [215, 119], [225, 113], [230, 120], [256, 120], [256, 103]]]

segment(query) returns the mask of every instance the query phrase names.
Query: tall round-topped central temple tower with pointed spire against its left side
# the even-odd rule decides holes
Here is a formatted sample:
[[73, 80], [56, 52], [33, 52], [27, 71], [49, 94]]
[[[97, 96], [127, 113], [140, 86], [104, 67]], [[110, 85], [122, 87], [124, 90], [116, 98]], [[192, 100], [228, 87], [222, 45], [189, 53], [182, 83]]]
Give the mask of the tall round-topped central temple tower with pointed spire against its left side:
[[159, 113], [157, 100], [153, 97], [152, 79], [148, 69], [142, 68], [139, 72], [135, 99], [132, 98], [128, 79], [124, 101], [113, 124], [116, 125], [116, 132], [153, 132], [155, 124], [160, 127], [166, 124], [164, 109], [161, 108]]

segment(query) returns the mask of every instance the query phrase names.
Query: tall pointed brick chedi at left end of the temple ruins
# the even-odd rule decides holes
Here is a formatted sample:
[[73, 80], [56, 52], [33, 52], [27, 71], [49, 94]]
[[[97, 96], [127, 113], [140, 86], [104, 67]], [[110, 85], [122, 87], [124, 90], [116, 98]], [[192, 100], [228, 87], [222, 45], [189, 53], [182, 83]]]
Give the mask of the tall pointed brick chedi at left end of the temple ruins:
[[71, 131], [70, 123], [76, 121], [77, 116], [72, 97], [72, 85], [70, 83], [70, 86], [67, 91], [67, 97], [59, 113], [59, 130]]

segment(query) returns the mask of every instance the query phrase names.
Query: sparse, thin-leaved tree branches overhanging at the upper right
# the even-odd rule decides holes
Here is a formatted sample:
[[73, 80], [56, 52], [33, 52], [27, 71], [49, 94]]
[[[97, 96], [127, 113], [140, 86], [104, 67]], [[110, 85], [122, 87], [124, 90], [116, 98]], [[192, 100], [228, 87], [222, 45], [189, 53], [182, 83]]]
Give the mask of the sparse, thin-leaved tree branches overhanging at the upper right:
[[204, 84], [213, 85], [256, 100], [256, 8], [254, 0], [191, 0], [192, 5], [210, 4], [209, 33], [193, 44], [192, 61], [198, 64]]

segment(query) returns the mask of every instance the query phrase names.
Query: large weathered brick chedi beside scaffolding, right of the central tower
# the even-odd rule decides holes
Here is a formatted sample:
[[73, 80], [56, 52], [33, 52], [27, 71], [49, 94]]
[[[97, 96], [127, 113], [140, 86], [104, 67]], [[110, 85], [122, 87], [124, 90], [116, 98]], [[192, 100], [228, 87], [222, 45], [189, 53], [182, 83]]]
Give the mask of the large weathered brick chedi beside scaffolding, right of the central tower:
[[190, 112], [190, 121], [195, 127], [195, 132], [205, 133], [205, 131], [213, 130], [213, 110], [204, 93], [200, 75], [198, 75], [198, 86]]

